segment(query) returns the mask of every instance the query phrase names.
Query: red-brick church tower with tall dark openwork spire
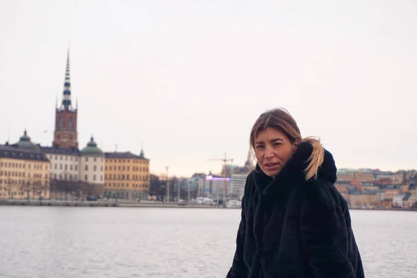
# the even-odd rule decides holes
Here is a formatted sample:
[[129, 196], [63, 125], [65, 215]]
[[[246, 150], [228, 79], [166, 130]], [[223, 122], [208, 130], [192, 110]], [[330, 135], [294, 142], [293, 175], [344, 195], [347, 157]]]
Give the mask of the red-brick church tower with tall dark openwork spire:
[[63, 101], [55, 109], [54, 147], [75, 147], [78, 149], [78, 133], [76, 132], [77, 108], [72, 108], [70, 83], [70, 50], [67, 54]]

